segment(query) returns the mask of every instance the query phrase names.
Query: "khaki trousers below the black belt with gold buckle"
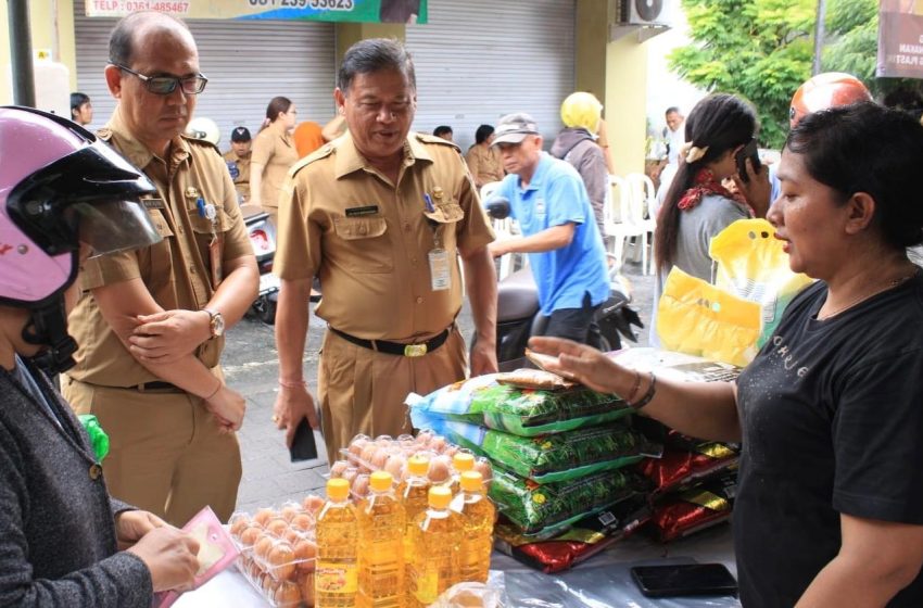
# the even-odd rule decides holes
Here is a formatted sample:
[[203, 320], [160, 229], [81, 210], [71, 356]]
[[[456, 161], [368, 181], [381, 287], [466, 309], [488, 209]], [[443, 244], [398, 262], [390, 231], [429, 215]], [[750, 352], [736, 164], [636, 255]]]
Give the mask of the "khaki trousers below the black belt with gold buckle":
[[409, 433], [409, 393], [426, 395], [465, 378], [465, 339], [457, 327], [445, 343], [421, 357], [365, 349], [327, 331], [320, 351], [317, 396], [330, 463], [356, 434]]

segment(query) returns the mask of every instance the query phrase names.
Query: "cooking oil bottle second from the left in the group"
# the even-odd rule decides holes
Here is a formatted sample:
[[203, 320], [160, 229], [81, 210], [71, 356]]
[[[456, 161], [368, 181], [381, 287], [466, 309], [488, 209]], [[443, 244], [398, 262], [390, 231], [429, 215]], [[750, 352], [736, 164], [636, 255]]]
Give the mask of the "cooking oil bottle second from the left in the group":
[[404, 606], [404, 506], [388, 471], [369, 477], [369, 495], [356, 508], [359, 591], [356, 608]]

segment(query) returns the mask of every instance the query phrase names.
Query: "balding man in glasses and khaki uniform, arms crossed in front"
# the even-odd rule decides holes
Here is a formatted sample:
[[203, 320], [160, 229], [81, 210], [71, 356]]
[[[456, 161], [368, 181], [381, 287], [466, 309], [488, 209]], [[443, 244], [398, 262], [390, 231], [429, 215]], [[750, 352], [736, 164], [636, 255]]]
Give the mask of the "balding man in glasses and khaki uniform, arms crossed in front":
[[69, 318], [80, 347], [62, 389], [110, 435], [114, 496], [174, 524], [206, 505], [227, 520], [244, 401], [218, 360], [224, 326], [256, 296], [256, 262], [220, 154], [180, 135], [206, 83], [192, 35], [170, 16], [134, 13], [110, 51], [118, 105], [99, 135], [156, 186], [146, 206], [163, 241], [84, 265]]

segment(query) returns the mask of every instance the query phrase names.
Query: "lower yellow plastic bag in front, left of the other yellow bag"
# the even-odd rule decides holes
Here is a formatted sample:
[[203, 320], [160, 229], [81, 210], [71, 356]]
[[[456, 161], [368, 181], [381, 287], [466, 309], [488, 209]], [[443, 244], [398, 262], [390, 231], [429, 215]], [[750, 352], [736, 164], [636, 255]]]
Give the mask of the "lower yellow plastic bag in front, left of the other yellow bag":
[[756, 356], [759, 331], [759, 304], [670, 270], [657, 304], [663, 349], [743, 367]]

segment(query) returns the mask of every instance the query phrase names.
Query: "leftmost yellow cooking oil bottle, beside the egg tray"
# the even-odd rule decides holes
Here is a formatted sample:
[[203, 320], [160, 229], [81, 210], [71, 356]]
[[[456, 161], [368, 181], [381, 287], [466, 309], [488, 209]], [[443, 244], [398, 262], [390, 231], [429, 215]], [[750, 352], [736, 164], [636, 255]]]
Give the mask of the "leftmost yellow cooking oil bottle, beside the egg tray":
[[317, 571], [314, 577], [317, 608], [353, 608], [358, 572], [356, 510], [350, 503], [345, 479], [327, 482], [327, 503], [317, 516]]

